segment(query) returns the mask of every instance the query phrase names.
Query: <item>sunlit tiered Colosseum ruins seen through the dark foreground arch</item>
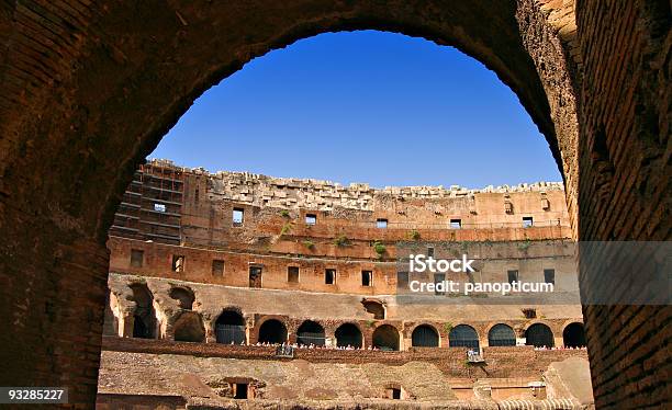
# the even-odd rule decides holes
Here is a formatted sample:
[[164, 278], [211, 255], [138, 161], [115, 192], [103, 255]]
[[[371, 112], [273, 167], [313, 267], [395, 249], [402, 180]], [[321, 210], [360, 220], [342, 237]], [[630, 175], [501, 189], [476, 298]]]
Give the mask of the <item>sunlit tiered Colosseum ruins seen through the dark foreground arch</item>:
[[455, 282], [578, 295], [560, 183], [380, 190], [141, 167], [108, 241], [98, 407], [592, 406], [578, 297], [404, 299], [407, 243], [478, 258]]

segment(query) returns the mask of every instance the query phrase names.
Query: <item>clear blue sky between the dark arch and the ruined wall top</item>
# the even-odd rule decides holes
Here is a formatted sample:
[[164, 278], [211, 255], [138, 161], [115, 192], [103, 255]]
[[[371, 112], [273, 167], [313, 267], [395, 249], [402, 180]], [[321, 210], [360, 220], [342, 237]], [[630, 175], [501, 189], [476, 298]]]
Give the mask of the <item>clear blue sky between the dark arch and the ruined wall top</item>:
[[149, 157], [372, 186], [561, 181], [494, 72], [455, 48], [372, 31], [256, 58], [198, 99]]

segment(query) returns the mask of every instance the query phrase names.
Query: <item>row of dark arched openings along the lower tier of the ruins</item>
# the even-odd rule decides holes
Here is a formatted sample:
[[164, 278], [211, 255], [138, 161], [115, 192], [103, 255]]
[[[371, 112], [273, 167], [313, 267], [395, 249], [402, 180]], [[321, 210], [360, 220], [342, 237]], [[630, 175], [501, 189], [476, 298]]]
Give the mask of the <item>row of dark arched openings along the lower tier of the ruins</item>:
[[[156, 314], [153, 306], [153, 295], [146, 285], [134, 284], [130, 286], [135, 300], [133, 337], [154, 339], [156, 338]], [[176, 341], [203, 342], [205, 330], [201, 317], [190, 311], [194, 301], [193, 293], [189, 289], [172, 288], [171, 298], [178, 300], [178, 306], [184, 311], [173, 322], [173, 338]], [[239, 311], [225, 309], [214, 323], [215, 340], [217, 343], [240, 344], [248, 341], [246, 323]], [[261, 323], [257, 341], [261, 343], [283, 343], [288, 341], [287, 326], [278, 319], [267, 319]], [[344, 323], [335, 331], [337, 346], [363, 346], [363, 335], [355, 323]], [[525, 330], [526, 344], [537, 348], [555, 346], [555, 337], [551, 329], [545, 323], [533, 323]], [[563, 345], [568, 348], [585, 346], [585, 332], [580, 322], [569, 323], [562, 332]], [[372, 334], [372, 345], [381, 350], [396, 351], [400, 349], [401, 334], [391, 324], [381, 324]], [[325, 345], [326, 334], [322, 324], [305, 320], [296, 330], [296, 343], [305, 345]], [[411, 335], [411, 345], [417, 348], [438, 348], [439, 332], [432, 324], [419, 324], [415, 327]], [[505, 323], [497, 323], [488, 332], [488, 345], [490, 346], [515, 346], [517, 344], [514, 329]], [[458, 324], [448, 332], [448, 345], [450, 348], [480, 346], [477, 330], [469, 324]]]

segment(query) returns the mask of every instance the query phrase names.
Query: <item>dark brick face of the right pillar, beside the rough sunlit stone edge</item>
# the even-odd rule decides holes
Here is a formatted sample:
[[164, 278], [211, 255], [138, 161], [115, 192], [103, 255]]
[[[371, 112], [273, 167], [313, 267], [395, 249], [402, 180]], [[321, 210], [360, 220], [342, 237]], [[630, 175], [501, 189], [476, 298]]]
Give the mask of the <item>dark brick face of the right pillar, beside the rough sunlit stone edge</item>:
[[[670, 240], [670, 3], [582, 0], [576, 25], [579, 237]], [[585, 291], [601, 280], [590, 267]], [[584, 316], [596, 406], [669, 407], [672, 308], [585, 306]]]

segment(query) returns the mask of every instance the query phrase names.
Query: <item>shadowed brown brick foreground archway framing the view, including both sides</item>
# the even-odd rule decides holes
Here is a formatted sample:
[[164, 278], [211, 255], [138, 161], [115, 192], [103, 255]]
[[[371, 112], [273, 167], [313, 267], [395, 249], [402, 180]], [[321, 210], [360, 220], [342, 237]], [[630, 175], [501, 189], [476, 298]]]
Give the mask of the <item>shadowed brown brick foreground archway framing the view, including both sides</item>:
[[[5, 1], [0, 384], [65, 385], [92, 407], [108, 230], [142, 159], [253, 57], [357, 29], [452, 45], [494, 70], [549, 143], [574, 239], [670, 239], [668, 2]], [[594, 278], [581, 271], [585, 292]], [[669, 405], [670, 307], [583, 311], [596, 407]]]

